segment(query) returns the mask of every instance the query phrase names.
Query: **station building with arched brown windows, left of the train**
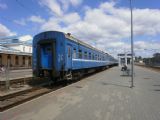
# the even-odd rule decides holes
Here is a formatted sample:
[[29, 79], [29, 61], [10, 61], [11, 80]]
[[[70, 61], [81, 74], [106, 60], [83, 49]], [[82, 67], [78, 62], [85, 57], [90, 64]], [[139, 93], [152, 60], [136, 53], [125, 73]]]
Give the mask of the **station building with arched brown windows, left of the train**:
[[32, 45], [23, 42], [0, 44], [0, 65], [10, 69], [32, 66]]

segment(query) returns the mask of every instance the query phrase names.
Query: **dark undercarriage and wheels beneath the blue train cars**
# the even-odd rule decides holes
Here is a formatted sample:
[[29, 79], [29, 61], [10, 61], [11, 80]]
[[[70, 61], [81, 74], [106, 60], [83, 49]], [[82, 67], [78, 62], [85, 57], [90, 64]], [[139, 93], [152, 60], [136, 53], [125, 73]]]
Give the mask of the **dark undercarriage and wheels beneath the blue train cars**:
[[79, 80], [86, 75], [93, 74], [95, 72], [100, 72], [110, 67], [116, 66], [117, 64], [101, 66], [95, 68], [87, 68], [87, 69], [78, 69], [78, 70], [68, 70], [68, 71], [60, 71], [55, 72], [54, 70], [42, 69], [39, 70], [39, 77], [44, 77], [50, 79], [53, 83], [57, 81], [72, 81]]

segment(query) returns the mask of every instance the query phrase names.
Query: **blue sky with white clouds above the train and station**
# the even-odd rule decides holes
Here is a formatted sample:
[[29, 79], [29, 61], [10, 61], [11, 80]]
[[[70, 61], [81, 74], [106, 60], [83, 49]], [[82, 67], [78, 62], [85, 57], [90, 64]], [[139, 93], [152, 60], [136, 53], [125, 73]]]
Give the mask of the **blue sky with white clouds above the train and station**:
[[[160, 0], [132, 0], [134, 51], [160, 52]], [[111, 55], [130, 51], [129, 0], [0, 0], [0, 38], [31, 41], [48, 30], [74, 37]]]

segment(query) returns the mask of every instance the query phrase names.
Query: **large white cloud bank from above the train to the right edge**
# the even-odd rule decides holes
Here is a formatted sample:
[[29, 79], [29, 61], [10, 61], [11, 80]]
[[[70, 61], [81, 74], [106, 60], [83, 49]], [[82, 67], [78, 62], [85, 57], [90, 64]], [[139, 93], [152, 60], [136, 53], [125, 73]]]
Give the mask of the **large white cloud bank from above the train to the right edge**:
[[[115, 5], [115, 2], [105, 2], [101, 3], [98, 8], [86, 8], [85, 6], [83, 17], [76, 12], [67, 12], [63, 17], [51, 17], [41, 26], [41, 29], [70, 32], [84, 42], [105, 51], [110, 49], [116, 49], [117, 52], [130, 50], [130, 9]], [[59, 4], [59, 7], [63, 8], [63, 5]], [[159, 35], [159, 21], [160, 9], [134, 8], [134, 36]], [[127, 39], [128, 42], [126, 42]], [[144, 46], [151, 48], [148, 43], [147, 41], [135, 42], [135, 48]], [[156, 42], [153, 43], [154, 45]], [[159, 45], [156, 47], [160, 48]]]

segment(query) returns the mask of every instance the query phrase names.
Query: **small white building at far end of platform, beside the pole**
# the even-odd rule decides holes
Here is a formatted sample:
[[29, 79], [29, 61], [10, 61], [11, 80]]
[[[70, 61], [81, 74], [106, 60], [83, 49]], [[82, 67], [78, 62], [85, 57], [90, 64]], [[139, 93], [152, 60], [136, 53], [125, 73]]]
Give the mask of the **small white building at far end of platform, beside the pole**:
[[132, 62], [132, 54], [131, 53], [119, 53], [118, 54], [118, 64], [119, 66], [129, 65]]

